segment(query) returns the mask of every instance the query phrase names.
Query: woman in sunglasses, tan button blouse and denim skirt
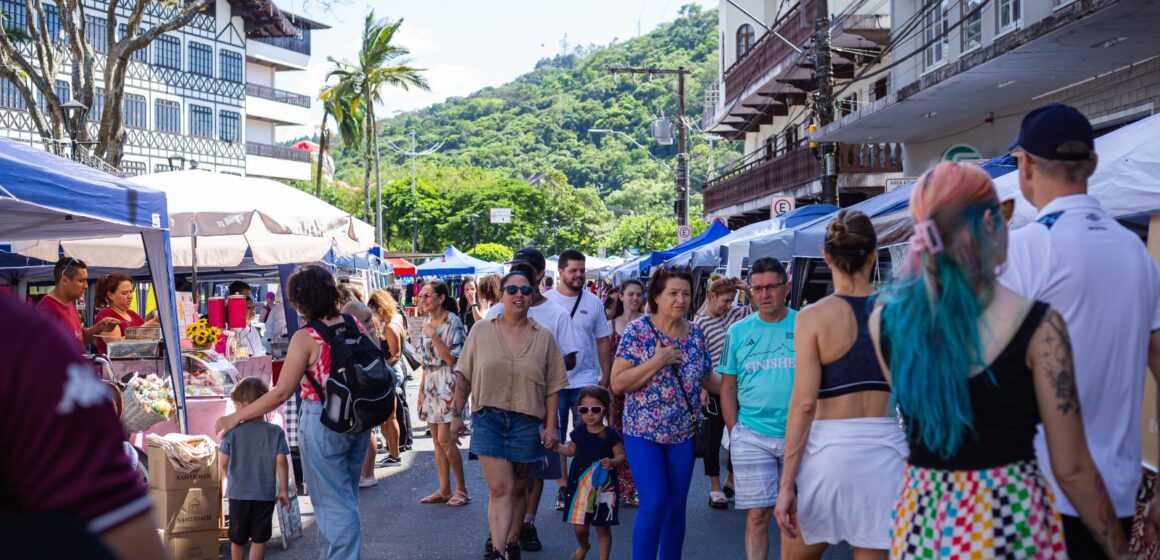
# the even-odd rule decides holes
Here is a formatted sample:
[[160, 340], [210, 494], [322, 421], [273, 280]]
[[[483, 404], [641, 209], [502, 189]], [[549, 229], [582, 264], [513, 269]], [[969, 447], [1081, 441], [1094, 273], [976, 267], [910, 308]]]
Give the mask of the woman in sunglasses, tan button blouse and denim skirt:
[[559, 392], [568, 386], [556, 339], [528, 318], [535, 293], [531, 282], [522, 268], [500, 281], [502, 313], [476, 323], [455, 368], [459, 380], [451, 432], [463, 431], [461, 413], [471, 397], [471, 452], [479, 456], [491, 494], [488, 532], [492, 543], [507, 543], [503, 550], [491, 550], [488, 559], [520, 550], [517, 541], [508, 540], [524, 515], [524, 504], [515, 496], [523, 495], [532, 464], [544, 457], [543, 446], [557, 443]]

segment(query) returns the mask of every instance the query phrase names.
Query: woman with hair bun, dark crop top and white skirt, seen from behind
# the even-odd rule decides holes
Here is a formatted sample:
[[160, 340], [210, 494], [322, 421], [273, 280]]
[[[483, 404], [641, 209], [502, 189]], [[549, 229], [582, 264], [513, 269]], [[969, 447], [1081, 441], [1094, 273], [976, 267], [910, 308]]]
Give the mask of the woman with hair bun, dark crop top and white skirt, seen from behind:
[[878, 239], [864, 213], [842, 210], [826, 230], [834, 293], [798, 312], [797, 365], [777, 494], [782, 558], [818, 559], [847, 541], [885, 559], [890, 514], [902, 492], [906, 439], [887, 415], [868, 320]]

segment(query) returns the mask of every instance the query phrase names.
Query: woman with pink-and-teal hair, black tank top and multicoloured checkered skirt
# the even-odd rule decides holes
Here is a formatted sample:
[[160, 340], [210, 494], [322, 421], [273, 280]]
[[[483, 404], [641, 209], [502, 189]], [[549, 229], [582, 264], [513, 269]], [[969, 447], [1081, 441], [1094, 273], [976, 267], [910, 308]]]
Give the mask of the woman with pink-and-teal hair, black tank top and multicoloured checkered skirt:
[[1109, 558], [1128, 546], [1083, 439], [1067, 326], [999, 285], [1007, 228], [991, 177], [944, 162], [911, 195], [900, 279], [870, 320], [909, 443], [891, 558], [1064, 559], [1053, 472]]

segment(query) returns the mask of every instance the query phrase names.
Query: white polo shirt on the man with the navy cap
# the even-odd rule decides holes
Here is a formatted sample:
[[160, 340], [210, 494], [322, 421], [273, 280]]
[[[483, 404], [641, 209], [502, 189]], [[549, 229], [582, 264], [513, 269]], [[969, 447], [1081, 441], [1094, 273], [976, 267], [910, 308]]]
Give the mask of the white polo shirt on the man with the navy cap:
[[[1160, 329], [1155, 260], [1099, 201], [1074, 195], [1052, 201], [1036, 223], [1010, 233], [1000, 282], [1046, 301], [1067, 322], [1088, 449], [1116, 515], [1134, 515], [1148, 339]], [[1035, 446], [1060, 514], [1075, 516], [1051, 472], [1043, 426]]]

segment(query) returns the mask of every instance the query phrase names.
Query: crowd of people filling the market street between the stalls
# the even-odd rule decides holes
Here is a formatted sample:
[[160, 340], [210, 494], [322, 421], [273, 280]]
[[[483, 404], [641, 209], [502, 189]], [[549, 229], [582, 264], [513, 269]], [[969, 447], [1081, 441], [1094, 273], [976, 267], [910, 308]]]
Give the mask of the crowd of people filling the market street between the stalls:
[[[842, 210], [822, 252], [832, 293], [800, 311], [788, 307], [790, 272], [774, 259], [754, 259], [747, 281], [715, 277], [701, 286], [687, 270], [660, 268], [647, 285], [628, 281], [602, 300], [586, 290], [583, 254], [563, 252], [548, 290], [546, 261], [531, 248], [516, 253], [506, 275], [464, 283], [458, 298], [448, 284], [426, 282], [414, 348], [398, 296], [375, 291], [363, 304], [318, 266], [299, 268], [285, 296], [303, 319], [327, 328], [357, 319], [400, 379], [412, 374], [412, 361], [419, 365], [416, 415], [437, 466], [437, 487], [420, 502], [471, 503], [459, 449], [470, 416], [470, 452], [487, 485], [490, 560], [542, 548], [536, 523], [548, 480], [574, 529], [573, 560], [594, 546], [610, 558], [622, 507], [637, 508], [632, 558], [681, 558], [699, 456], [708, 507], [727, 509], [732, 500], [746, 511], [751, 560], [768, 558], [771, 530], [789, 559], [818, 559], [842, 541], [857, 559], [1126, 559], [1145, 376], [1160, 376], [1160, 267], [1087, 195], [1097, 158], [1082, 115], [1061, 104], [1037, 109], [1012, 150], [1022, 192], [1038, 210], [1034, 224], [1008, 231], [981, 168], [940, 163], [913, 188], [914, 233], [894, 282], [871, 283], [873, 224]], [[37, 366], [52, 385], [29, 384], [19, 352], [0, 352], [17, 356], [0, 361], [0, 380], [74, 407], [26, 410], [30, 405], [8, 400], [0, 420], [17, 407], [30, 417], [56, 410], [41, 431], [113, 424], [84, 391], [61, 386], [84, 381], [71, 372], [79, 355], [68, 339], [85, 343], [146, 322], [126, 313], [132, 284], [102, 278], [108, 312], [84, 328], [71, 307], [87, 283], [84, 263], [63, 260], [55, 276], [41, 307], [66, 328], [29, 342], [66, 342], [67, 351], [48, 352], [46, 371]], [[694, 311], [697, 293], [703, 304]], [[28, 314], [7, 300], [0, 306]], [[22, 330], [7, 330], [0, 344], [21, 340]], [[230, 497], [254, 519], [239, 529], [241, 543], [231, 533], [235, 546], [264, 541], [266, 504], [285, 499], [288, 449], [281, 430], [260, 419], [298, 394], [298, 446], [321, 557], [360, 558], [358, 492], [374, 483], [378, 445], [370, 431], [322, 424], [318, 387], [331, 361], [318, 328], [297, 330], [277, 384], [239, 384], [237, 412], [218, 421], [237, 488]], [[408, 420], [399, 409], [382, 426], [380, 465], [400, 460]], [[0, 422], [3, 449], [28, 437], [14, 426]], [[261, 477], [229, 459], [246, 446], [269, 456]], [[124, 456], [95, 457], [68, 464], [125, 467]], [[28, 468], [20, 471], [42, 472]], [[19, 488], [20, 503], [72, 507], [104, 546], [144, 558], [129, 552], [150, 526], [131, 480], [106, 474], [101, 500], [90, 492], [55, 501], [55, 485], [73, 486], [60, 482], [61, 468], [43, 472], [45, 480], [27, 487], [5, 481], [5, 492]], [[1160, 534], [1158, 502], [1147, 512], [1152, 538]], [[110, 512], [119, 521], [109, 523]], [[17, 514], [0, 503], [0, 521]]]

